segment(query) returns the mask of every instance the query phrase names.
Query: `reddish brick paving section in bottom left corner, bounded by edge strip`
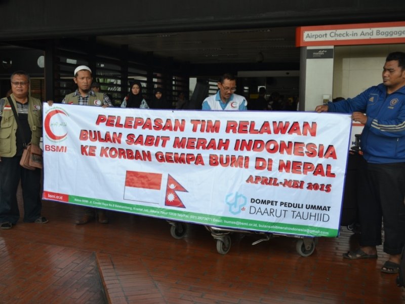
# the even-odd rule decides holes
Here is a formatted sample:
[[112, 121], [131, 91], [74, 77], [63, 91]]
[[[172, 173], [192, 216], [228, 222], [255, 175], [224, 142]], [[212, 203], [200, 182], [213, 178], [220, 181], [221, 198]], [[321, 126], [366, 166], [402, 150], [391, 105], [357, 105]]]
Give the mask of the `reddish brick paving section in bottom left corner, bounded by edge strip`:
[[19, 241], [17, 229], [0, 238], [0, 302], [105, 302], [93, 252]]

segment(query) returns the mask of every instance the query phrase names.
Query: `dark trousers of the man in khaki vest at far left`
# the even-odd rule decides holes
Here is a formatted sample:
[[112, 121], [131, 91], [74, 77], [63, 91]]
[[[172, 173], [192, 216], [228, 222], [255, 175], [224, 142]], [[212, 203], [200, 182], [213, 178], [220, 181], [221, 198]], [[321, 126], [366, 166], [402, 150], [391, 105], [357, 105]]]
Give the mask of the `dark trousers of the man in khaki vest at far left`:
[[17, 188], [21, 180], [24, 203], [24, 221], [33, 222], [41, 216], [41, 170], [20, 166], [21, 156], [2, 157], [0, 162], [0, 222], [16, 224], [20, 218]]

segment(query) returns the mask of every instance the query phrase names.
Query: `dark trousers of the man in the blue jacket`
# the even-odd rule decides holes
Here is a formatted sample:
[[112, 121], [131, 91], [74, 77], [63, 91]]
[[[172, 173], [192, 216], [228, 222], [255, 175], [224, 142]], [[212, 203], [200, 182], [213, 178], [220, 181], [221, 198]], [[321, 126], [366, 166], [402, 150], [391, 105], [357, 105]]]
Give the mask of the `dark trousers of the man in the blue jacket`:
[[384, 252], [400, 254], [405, 244], [405, 163], [371, 164], [359, 169], [360, 246], [381, 245]]

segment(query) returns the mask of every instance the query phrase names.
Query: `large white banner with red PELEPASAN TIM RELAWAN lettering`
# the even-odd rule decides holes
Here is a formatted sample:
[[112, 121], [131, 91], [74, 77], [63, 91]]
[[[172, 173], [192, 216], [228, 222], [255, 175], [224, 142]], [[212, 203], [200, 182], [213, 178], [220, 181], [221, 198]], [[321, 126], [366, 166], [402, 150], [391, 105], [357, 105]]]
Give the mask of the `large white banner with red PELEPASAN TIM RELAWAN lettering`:
[[46, 103], [44, 111], [43, 199], [338, 236], [349, 115]]

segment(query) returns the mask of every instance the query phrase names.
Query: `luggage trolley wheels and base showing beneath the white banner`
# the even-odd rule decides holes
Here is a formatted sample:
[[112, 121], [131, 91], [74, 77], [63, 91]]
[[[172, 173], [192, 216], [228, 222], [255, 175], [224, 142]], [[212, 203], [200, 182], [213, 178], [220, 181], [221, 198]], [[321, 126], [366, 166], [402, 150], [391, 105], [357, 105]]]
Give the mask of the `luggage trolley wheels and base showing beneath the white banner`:
[[[171, 225], [170, 234], [175, 239], [182, 239], [187, 233], [187, 223], [179, 221], [168, 221]], [[264, 241], [269, 241], [275, 237], [285, 236], [298, 238], [296, 244], [296, 250], [301, 256], [310, 256], [318, 243], [318, 238], [316, 237], [303, 237], [296, 235], [285, 235], [285, 234], [274, 234], [267, 232], [249, 231], [249, 230], [236, 230], [221, 228], [216, 226], [205, 226], [206, 229], [211, 233], [212, 237], [217, 241], [217, 252], [220, 254], [227, 254], [231, 248], [231, 237], [230, 234], [233, 232], [242, 234], [256, 234], [262, 236], [261, 239], [252, 243], [252, 245], [259, 244]]]

